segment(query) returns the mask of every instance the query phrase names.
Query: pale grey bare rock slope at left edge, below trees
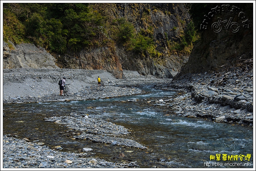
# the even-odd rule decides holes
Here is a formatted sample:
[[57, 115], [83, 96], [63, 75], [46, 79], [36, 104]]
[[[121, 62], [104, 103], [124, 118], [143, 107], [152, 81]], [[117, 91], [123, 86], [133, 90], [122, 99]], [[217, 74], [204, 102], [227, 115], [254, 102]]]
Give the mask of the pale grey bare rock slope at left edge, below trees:
[[3, 42], [3, 68], [59, 68], [56, 59], [42, 47], [33, 44], [14, 45]]

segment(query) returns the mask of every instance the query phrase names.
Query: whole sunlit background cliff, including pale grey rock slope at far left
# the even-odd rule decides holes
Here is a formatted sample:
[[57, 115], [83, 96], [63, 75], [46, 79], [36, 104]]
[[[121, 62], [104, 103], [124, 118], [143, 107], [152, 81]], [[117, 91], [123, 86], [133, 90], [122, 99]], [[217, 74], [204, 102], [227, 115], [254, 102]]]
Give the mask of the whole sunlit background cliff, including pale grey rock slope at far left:
[[[122, 45], [114, 48], [101, 47], [66, 54], [49, 54], [41, 47], [31, 44], [9, 46], [4, 42], [4, 68], [72, 68], [103, 69], [116, 78], [124, 78], [122, 70], [135, 70], [142, 75], [154, 75], [157, 78], [173, 78], [187, 62], [188, 56], [177, 55], [168, 49], [168, 40], [180, 41], [190, 16], [183, 4], [171, 3], [95, 3], [92, 8], [107, 16], [109, 21], [124, 17], [133, 23], [139, 32], [152, 30], [156, 50], [161, 54], [150, 57], [127, 51]], [[149, 29], [150, 28], [150, 29]]]

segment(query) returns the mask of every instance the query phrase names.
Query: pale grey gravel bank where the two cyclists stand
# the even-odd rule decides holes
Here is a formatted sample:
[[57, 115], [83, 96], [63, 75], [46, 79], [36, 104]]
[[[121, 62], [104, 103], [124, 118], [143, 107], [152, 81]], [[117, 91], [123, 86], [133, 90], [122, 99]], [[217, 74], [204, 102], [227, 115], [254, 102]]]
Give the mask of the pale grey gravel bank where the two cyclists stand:
[[[126, 79], [116, 79], [104, 70], [4, 69], [3, 102], [46, 102], [127, 96], [142, 93], [142, 90], [127, 86], [145, 84], [148, 81], [162, 81], [154, 76], [139, 75], [138, 72], [125, 71], [125, 73]], [[63, 76], [66, 77], [66, 84], [70, 84], [71, 94], [66, 97], [58, 96], [58, 81]], [[105, 87], [98, 87], [98, 76], [104, 81]], [[126, 87], [119, 87], [119, 85]]]

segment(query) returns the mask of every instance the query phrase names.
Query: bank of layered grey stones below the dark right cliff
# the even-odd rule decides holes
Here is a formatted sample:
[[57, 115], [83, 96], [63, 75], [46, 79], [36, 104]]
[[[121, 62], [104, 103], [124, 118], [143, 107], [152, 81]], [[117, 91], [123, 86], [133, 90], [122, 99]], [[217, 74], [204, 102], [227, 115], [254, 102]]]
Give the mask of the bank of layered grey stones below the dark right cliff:
[[188, 74], [156, 87], [186, 92], [172, 103], [177, 115], [253, 126], [252, 70]]

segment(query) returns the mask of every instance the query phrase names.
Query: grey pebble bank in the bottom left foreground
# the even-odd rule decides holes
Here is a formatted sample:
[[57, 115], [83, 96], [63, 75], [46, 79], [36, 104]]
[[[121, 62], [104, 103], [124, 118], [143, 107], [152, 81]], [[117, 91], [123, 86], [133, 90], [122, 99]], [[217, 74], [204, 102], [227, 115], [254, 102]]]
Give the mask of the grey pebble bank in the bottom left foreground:
[[[138, 168], [133, 162], [112, 163], [85, 157], [85, 152], [71, 153], [50, 149], [39, 143], [3, 136], [3, 168]], [[85, 155], [84, 155], [85, 154]]]

